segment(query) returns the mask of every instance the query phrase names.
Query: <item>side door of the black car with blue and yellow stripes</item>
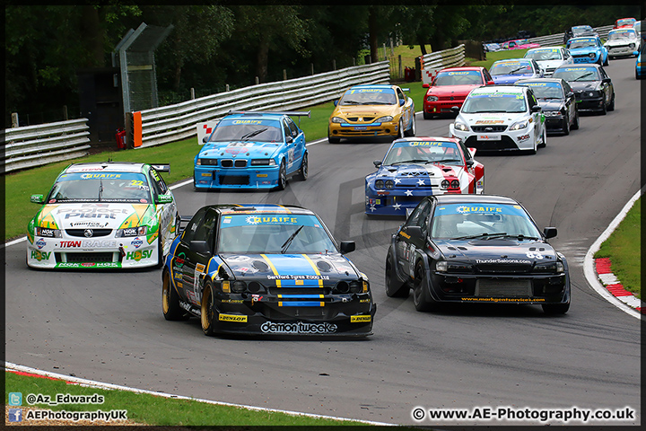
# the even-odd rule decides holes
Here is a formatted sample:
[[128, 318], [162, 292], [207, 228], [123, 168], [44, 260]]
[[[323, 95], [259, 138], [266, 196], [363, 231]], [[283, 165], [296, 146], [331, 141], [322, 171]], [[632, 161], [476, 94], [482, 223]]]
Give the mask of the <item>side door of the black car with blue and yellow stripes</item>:
[[[202, 300], [202, 278], [205, 275], [208, 261], [213, 256], [217, 220], [218, 216], [215, 210], [208, 208], [205, 215], [196, 224], [187, 226], [187, 229], [191, 229], [191, 233], [187, 237], [190, 240], [182, 268], [182, 284], [188, 303], [200, 305]], [[208, 251], [200, 251], [190, 247], [190, 241], [205, 241]]]

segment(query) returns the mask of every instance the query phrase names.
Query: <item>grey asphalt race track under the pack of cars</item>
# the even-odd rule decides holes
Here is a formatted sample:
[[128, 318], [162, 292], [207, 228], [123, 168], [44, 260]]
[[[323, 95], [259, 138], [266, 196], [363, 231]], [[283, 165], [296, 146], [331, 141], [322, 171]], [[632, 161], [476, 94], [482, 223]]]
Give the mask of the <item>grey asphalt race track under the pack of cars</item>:
[[[572, 306], [563, 316], [546, 316], [537, 305], [466, 304], [422, 313], [411, 297], [388, 298], [388, 242], [404, 220], [364, 215], [363, 177], [389, 141], [325, 141], [308, 147], [310, 178], [292, 180], [282, 192], [204, 193], [187, 185], [174, 193], [188, 216], [225, 202], [316, 211], [337, 241], [357, 242], [349, 257], [371, 278], [378, 304], [373, 336], [207, 338], [195, 318], [164, 320], [161, 270], [36, 271], [26, 267], [20, 242], [5, 250], [6, 361], [144, 390], [393, 424], [541, 425], [416, 422], [415, 407], [629, 406], [637, 419], [612, 423], [638, 425], [640, 321], [607, 303], [583, 276], [589, 246], [640, 189], [634, 58], [611, 60], [607, 72], [615, 111], [581, 115], [580, 130], [548, 136], [536, 155], [476, 154], [485, 164], [486, 193], [519, 199], [541, 230], [558, 228], [551, 243], [566, 255], [572, 274]], [[451, 121], [419, 114], [417, 135], [447, 136]]]

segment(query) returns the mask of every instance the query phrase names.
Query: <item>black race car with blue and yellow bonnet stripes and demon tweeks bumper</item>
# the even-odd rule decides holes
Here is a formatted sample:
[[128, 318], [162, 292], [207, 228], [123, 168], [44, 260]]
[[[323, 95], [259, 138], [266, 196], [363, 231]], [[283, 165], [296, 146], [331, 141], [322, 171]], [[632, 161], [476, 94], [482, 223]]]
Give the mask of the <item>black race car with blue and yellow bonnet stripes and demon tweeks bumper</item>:
[[200, 317], [206, 335], [371, 335], [368, 277], [308, 209], [202, 207], [162, 270], [166, 320]]

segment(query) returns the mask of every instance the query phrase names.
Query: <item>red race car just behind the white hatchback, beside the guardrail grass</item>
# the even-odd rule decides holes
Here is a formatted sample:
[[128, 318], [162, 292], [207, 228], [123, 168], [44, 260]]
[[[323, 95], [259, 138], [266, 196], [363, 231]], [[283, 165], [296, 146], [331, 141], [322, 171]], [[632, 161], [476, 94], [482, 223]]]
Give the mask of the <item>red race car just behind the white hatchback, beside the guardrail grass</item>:
[[462, 106], [467, 94], [480, 85], [493, 84], [493, 79], [485, 67], [464, 66], [442, 69], [432, 79], [423, 99], [423, 118], [432, 119], [435, 115], [450, 113], [451, 108]]

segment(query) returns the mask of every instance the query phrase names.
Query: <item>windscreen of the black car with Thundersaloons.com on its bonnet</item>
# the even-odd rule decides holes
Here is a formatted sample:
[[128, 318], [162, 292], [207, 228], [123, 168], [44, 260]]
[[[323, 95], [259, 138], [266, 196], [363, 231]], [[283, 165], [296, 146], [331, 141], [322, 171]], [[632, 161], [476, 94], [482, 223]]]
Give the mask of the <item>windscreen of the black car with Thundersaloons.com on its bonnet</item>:
[[485, 238], [493, 233], [500, 236], [541, 238], [536, 225], [519, 205], [477, 203], [439, 205], [435, 208], [432, 238]]

